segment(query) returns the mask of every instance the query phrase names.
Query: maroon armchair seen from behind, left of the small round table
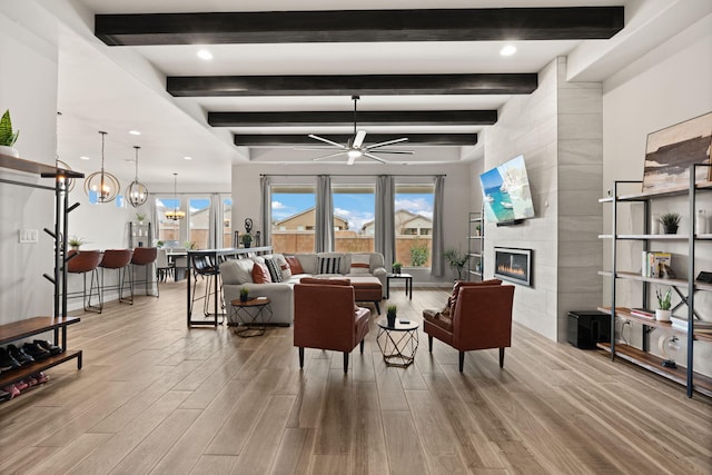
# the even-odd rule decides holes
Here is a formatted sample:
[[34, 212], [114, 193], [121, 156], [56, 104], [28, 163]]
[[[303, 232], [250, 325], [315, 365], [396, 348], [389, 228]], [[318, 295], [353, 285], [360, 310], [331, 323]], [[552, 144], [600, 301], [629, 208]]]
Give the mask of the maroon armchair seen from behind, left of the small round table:
[[[314, 279], [309, 279], [314, 280]], [[324, 280], [294, 286], [294, 346], [299, 348], [299, 367], [304, 367], [304, 348], [344, 352], [344, 374], [348, 354], [368, 333], [370, 310], [357, 307], [354, 287], [348, 280]]]

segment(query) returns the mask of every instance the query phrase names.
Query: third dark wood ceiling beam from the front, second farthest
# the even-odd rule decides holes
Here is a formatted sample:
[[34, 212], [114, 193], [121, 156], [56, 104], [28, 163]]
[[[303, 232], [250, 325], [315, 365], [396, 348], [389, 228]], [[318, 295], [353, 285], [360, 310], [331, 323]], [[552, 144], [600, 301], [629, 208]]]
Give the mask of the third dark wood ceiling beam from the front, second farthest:
[[[359, 110], [359, 126], [492, 126], [496, 110]], [[212, 127], [352, 126], [354, 111], [208, 112]]]

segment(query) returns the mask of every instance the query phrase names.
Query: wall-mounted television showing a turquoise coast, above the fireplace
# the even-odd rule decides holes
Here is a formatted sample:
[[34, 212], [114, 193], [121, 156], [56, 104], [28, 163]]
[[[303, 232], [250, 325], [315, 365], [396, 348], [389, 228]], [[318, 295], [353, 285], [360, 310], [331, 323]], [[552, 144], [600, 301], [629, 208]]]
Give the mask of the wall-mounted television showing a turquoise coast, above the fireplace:
[[523, 155], [482, 174], [479, 185], [487, 222], [513, 225], [534, 217]]

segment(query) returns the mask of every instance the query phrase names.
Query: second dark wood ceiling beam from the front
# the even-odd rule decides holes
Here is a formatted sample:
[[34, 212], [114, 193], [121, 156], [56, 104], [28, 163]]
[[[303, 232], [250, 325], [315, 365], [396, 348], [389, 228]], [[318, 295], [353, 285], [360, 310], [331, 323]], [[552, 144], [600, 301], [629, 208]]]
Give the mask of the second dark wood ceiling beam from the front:
[[363, 76], [169, 76], [176, 97], [354, 96], [354, 95], [527, 95], [535, 72], [478, 75]]

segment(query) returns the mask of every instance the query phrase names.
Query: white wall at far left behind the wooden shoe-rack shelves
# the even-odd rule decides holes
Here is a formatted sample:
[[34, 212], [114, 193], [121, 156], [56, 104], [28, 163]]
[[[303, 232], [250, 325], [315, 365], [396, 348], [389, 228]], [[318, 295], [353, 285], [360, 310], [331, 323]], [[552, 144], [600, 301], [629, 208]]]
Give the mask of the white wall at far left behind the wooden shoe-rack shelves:
[[[12, 3], [12, 4], [9, 4]], [[57, 111], [56, 32], [40, 10], [24, 2], [0, 6], [0, 115], [10, 109], [24, 159], [55, 161]], [[26, 27], [32, 18], [37, 30]], [[53, 187], [51, 179], [0, 169], [0, 178]], [[52, 314], [53, 191], [0, 182], [0, 324]], [[20, 229], [38, 229], [39, 243], [19, 244]]]

